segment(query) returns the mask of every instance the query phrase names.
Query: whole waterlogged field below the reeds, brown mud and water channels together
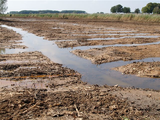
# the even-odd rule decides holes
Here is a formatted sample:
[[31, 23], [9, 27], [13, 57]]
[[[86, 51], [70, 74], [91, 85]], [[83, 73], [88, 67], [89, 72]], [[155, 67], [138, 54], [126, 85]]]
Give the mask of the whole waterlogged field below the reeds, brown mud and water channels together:
[[[1, 27], [22, 35], [22, 43], [18, 45], [28, 48], [1, 48], [2, 119], [156, 120], [160, 117], [160, 92], [141, 89], [160, 88], [160, 79], [157, 78], [159, 62], [156, 62], [160, 60], [157, 50], [160, 28], [155, 27], [156, 24], [18, 18], [8, 20], [10, 22], [1, 22], [8, 26]], [[86, 55], [87, 59], [92, 58], [93, 61], [95, 55], [103, 59], [98, 59], [100, 65], [92, 64], [70, 51], [83, 52], [77, 55]], [[103, 56], [104, 53], [106, 56]], [[108, 61], [108, 57], [111, 61]], [[135, 65], [132, 70], [132, 64], [127, 65], [130, 63]], [[122, 65], [126, 67], [118, 68]], [[121, 71], [121, 74], [111, 70], [114, 67], [117, 67], [116, 70], [126, 68], [126, 72]], [[148, 78], [124, 75], [137, 74], [141, 70], [145, 76], [144, 73], [149, 73], [146, 68], [152, 73]], [[156, 75], [153, 74], [155, 72]], [[103, 86], [89, 85], [81, 80]]]

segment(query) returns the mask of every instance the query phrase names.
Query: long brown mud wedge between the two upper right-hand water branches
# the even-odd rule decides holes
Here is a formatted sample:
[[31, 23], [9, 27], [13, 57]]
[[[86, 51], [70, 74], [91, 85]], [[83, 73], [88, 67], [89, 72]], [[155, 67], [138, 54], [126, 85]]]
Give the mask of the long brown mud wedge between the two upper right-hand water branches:
[[160, 44], [130, 47], [103, 47], [89, 50], [74, 50], [73, 54], [91, 60], [94, 64], [102, 64], [113, 61], [139, 60], [151, 57], [160, 57], [158, 51]]

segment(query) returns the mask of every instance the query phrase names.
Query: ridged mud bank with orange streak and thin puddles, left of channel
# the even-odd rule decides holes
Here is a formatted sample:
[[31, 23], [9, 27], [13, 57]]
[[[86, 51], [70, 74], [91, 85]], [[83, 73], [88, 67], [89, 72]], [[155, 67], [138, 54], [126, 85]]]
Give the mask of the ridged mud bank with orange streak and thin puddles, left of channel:
[[53, 63], [40, 52], [0, 55], [0, 79], [21, 80], [32, 78], [51, 78], [79, 76], [74, 70]]

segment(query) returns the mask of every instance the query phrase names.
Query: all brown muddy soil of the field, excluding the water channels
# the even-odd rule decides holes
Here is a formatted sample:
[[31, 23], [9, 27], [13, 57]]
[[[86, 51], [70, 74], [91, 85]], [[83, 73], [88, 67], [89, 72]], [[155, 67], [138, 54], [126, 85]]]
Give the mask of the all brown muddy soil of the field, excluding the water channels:
[[[157, 24], [33, 18], [7, 20], [10, 22], [0, 22], [22, 28], [48, 40], [57, 40], [59, 47], [152, 43], [158, 42], [160, 35], [160, 27]], [[7, 32], [0, 36], [2, 41], [5, 40], [5, 34], [8, 36]], [[19, 36], [16, 33], [10, 35], [11, 39], [8, 40]], [[134, 36], [137, 38], [131, 38]], [[104, 47], [75, 50], [72, 53], [101, 64], [159, 57], [159, 47], [159, 44]], [[142, 77], [159, 77], [160, 74], [159, 62], [139, 62], [115, 69], [125, 74], [141, 73]], [[158, 120], [160, 117], [159, 90], [123, 88], [119, 85], [89, 85], [81, 81], [80, 73], [54, 63], [38, 51], [0, 54], [0, 74], [1, 80], [14, 81], [0, 88], [2, 120]]]

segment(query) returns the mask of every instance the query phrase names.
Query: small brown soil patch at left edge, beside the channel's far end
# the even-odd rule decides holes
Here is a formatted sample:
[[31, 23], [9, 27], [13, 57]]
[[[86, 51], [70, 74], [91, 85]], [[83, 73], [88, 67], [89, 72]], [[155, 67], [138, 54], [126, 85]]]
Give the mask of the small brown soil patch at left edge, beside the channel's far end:
[[21, 43], [22, 36], [18, 33], [16, 33], [13, 30], [9, 30], [7, 28], [0, 26], [0, 48], [9, 48], [9, 49], [15, 49], [15, 48], [21, 48], [25, 49], [27, 48], [24, 45], [18, 45]]

